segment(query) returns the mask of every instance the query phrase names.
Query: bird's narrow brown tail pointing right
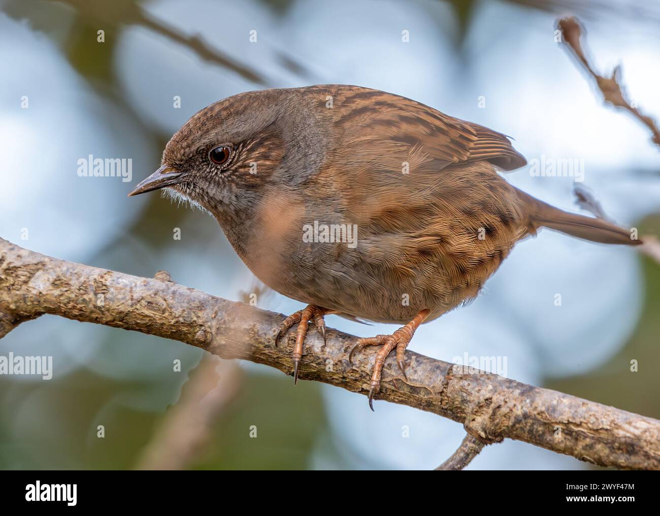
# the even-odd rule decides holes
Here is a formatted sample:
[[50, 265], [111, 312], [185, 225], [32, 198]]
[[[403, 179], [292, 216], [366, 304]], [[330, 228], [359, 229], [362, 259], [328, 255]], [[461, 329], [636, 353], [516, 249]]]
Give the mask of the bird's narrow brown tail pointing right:
[[591, 242], [623, 245], [639, 245], [642, 243], [639, 239], [634, 240], [630, 231], [603, 219], [564, 212], [520, 190], [519, 195], [529, 210], [531, 233], [534, 233], [538, 227], [545, 226]]

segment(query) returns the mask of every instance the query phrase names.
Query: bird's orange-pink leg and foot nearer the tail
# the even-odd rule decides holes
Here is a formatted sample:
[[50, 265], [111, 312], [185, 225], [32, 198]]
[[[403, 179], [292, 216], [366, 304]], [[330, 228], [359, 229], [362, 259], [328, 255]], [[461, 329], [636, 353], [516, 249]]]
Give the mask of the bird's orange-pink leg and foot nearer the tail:
[[409, 322], [406, 326], [399, 328], [399, 330], [395, 331], [391, 335], [376, 335], [376, 337], [358, 339], [353, 347], [350, 348], [350, 351], [348, 352], [348, 362], [352, 363], [353, 353], [355, 353], [355, 351], [359, 351], [360, 349], [367, 346], [383, 345], [383, 347], [381, 347], [381, 349], [379, 349], [378, 353], [376, 354], [376, 362], [374, 362], [374, 372], [372, 374], [372, 382], [370, 386], [371, 388], [369, 389], [369, 407], [371, 407], [372, 411], [374, 410], [374, 392], [378, 392], [378, 389], [380, 388], [380, 374], [383, 370], [383, 365], [385, 364], [385, 358], [387, 358], [387, 355], [389, 355], [389, 353], [395, 348], [397, 349], [397, 364], [399, 365], [399, 369], [401, 369], [403, 378], [408, 381], [405, 372], [404, 353], [406, 351], [406, 347], [408, 347], [411, 339], [413, 338], [414, 331], [419, 328], [419, 325], [422, 324], [424, 320], [426, 320], [429, 313], [430, 310], [424, 308], [424, 310], [419, 312], [411, 322]]

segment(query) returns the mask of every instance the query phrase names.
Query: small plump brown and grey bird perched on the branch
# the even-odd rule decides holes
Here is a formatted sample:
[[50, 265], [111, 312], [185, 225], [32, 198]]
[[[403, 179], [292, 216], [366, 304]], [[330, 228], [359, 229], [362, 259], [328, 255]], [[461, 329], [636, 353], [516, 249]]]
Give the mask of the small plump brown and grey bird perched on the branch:
[[511, 186], [499, 171], [526, 161], [504, 134], [401, 96], [326, 85], [247, 92], [202, 109], [172, 136], [162, 167], [129, 194], [168, 188], [201, 205], [249, 269], [308, 304], [298, 324], [294, 379], [308, 323], [323, 316], [403, 323], [387, 355], [414, 331], [473, 299], [513, 244], [545, 226], [608, 244], [640, 244], [607, 221], [570, 214]]

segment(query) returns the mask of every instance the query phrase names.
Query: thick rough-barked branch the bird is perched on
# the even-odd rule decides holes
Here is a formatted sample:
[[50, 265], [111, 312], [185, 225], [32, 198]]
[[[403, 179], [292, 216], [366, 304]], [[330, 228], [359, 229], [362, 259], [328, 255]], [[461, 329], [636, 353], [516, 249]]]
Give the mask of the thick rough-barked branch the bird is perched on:
[[[183, 287], [167, 273], [131, 276], [0, 239], [0, 337], [42, 314], [142, 331], [292, 374], [294, 334], [273, 345], [281, 314]], [[329, 329], [324, 344], [310, 328], [300, 378], [366, 394], [377, 350], [365, 349], [350, 365], [354, 339]], [[494, 374], [463, 372], [412, 351], [406, 360], [407, 382], [395, 358], [387, 359], [376, 399], [461, 422], [484, 444], [511, 438], [602, 466], [660, 469], [658, 420]]]

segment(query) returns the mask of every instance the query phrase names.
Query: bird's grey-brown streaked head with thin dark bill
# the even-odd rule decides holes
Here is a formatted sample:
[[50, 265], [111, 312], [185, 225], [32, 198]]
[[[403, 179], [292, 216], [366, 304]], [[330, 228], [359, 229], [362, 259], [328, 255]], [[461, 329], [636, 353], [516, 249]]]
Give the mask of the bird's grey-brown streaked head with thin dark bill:
[[198, 111], [168, 142], [162, 166], [129, 196], [166, 188], [216, 216], [254, 206], [266, 185], [286, 176], [282, 160], [295, 134], [286, 112], [294, 95], [246, 92]]

